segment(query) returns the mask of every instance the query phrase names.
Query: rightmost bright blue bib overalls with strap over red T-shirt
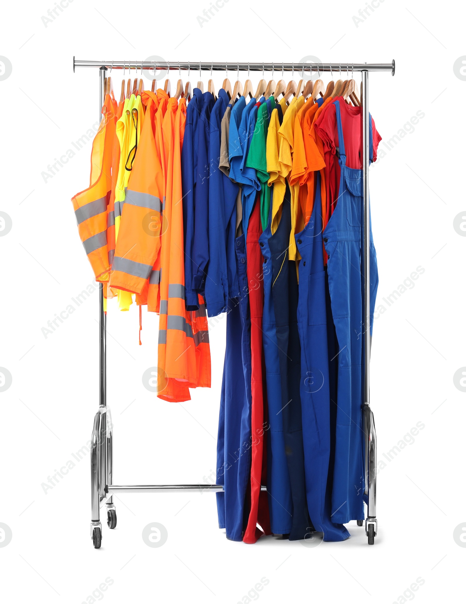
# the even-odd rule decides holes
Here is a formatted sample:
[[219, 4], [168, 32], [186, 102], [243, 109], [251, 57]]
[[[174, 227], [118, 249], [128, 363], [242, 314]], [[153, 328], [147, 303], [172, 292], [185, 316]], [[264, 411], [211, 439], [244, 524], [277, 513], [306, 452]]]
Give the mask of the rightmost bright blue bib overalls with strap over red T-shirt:
[[[328, 288], [339, 350], [335, 462], [332, 492], [333, 522], [363, 520], [362, 341], [363, 324], [363, 172], [346, 166], [340, 105], [336, 101], [340, 189], [336, 208], [324, 231], [328, 254]], [[369, 115], [369, 158], [372, 161], [372, 118]], [[369, 236], [371, 333], [377, 294], [377, 257]]]

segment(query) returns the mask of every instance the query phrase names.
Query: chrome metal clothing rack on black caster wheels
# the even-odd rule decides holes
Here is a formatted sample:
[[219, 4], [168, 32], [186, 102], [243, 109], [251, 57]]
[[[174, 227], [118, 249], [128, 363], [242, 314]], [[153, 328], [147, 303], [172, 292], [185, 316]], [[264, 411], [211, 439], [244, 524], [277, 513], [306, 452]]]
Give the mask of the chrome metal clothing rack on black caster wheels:
[[[104, 79], [107, 69], [157, 69], [167, 71], [296, 71], [320, 72], [351, 71], [362, 73], [362, 152], [363, 152], [363, 397], [362, 418], [365, 434], [365, 495], [368, 497], [368, 515], [366, 518], [366, 535], [370, 545], [374, 544], [377, 535], [377, 517], [375, 513], [375, 468], [377, 464], [377, 442], [375, 438], [374, 414], [369, 405], [369, 355], [371, 350], [370, 338], [370, 304], [369, 304], [369, 72], [383, 71], [395, 75], [395, 61], [391, 63], [204, 63], [178, 61], [78, 61], [73, 57], [73, 71], [76, 67], [94, 67], [99, 70], [99, 120], [104, 102]], [[107, 524], [109, 528], [117, 525], [117, 512], [113, 504], [114, 493], [180, 493], [193, 491], [222, 492], [221, 484], [113, 484], [113, 429], [110, 410], [107, 408], [106, 382], [106, 327], [107, 317], [104, 312], [103, 285], [100, 284], [99, 295], [99, 326], [100, 326], [100, 355], [99, 355], [99, 409], [95, 414], [94, 428], [91, 440], [91, 537], [95, 548], [100, 548], [102, 525], [100, 522], [100, 507], [107, 509]], [[366, 353], [369, 351], [369, 354]], [[267, 490], [262, 486], [262, 490]], [[362, 521], [357, 521], [362, 526]]]

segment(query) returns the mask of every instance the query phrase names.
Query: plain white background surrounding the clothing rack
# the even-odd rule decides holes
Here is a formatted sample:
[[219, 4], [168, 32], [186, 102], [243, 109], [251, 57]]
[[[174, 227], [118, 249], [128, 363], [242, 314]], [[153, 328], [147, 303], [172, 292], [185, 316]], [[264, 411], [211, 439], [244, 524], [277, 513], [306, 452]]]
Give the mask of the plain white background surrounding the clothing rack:
[[[0, 366], [13, 376], [0, 393], [0, 522], [13, 533], [0, 547], [2, 601], [92, 602], [106, 577], [113, 584], [94, 597], [115, 603], [461, 598], [466, 549], [453, 531], [466, 524], [466, 394], [453, 374], [466, 365], [466, 238], [453, 220], [466, 210], [466, 82], [453, 63], [466, 54], [465, 9], [375, 0], [378, 6], [356, 27], [353, 16], [366, 2], [303, 4], [229, 0], [203, 27], [197, 16], [208, 1], [74, 0], [46, 27], [41, 17], [54, 2], [29, 1], [12, 5], [2, 20], [0, 54], [13, 65], [0, 81], [0, 210], [13, 222], [0, 237]], [[381, 143], [386, 156], [371, 168], [377, 305], [387, 307], [375, 321], [371, 359], [379, 460], [417, 422], [425, 425], [378, 474], [374, 547], [356, 522], [348, 525], [348, 541], [316, 548], [274, 537], [255, 545], [229, 542], [217, 525], [215, 496], [206, 493], [121, 495], [116, 530], [101, 517], [102, 548], [92, 548], [89, 455], [78, 462], [72, 453], [90, 439], [98, 407], [97, 288], [55, 332], [45, 338], [41, 331], [92, 283], [71, 204], [88, 184], [91, 143], [53, 178], [44, 182], [41, 173], [75, 150], [72, 141], [99, 117], [98, 70], [74, 74], [73, 55], [134, 62], [154, 54], [193, 62], [395, 59], [395, 77], [369, 76], [369, 108], [383, 140], [425, 113], [393, 149]], [[254, 87], [258, 75], [251, 74]], [[121, 72], [112, 77], [119, 91]], [[204, 72], [205, 86], [208, 77]], [[214, 74], [216, 88], [223, 77]], [[229, 77], [233, 83], [235, 74]], [[191, 72], [191, 82], [198, 79]], [[425, 272], [415, 286], [392, 306], [383, 303], [418, 266]], [[211, 390], [193, 391], [191, 402], [176, 405], [157, 399], [141, 381], [156, 365], [156, 315], [144, 312], [140, 347], [136, 307], [121, 313], [109, 306], [115, 483], [213, 482], [225, 315], [210, 326]], [[44, 493], [41, 484], [68, 460], [75, 467]], [[162, 547], [142, 541], [150, 522], [168, 530]], [[261, 577], [269, 583], [247, 596]], [[425, 583], [402, 596], [418, 577]]]

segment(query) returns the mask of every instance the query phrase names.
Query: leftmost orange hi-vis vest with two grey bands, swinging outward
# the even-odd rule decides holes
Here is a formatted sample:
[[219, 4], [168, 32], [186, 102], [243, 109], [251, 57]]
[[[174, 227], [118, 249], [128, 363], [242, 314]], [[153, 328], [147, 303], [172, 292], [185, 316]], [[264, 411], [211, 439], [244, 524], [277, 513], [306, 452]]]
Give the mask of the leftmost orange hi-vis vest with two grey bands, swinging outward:
[[92, 143], [89, 187], [71, 199], [79, 235], [96, 281], [108, 281], [110, 270], [107, 204], [112, 191], [112, 147], [117, 115], [114, 101], [109, 94], [105, 97], [102, 111], [104, 116]]

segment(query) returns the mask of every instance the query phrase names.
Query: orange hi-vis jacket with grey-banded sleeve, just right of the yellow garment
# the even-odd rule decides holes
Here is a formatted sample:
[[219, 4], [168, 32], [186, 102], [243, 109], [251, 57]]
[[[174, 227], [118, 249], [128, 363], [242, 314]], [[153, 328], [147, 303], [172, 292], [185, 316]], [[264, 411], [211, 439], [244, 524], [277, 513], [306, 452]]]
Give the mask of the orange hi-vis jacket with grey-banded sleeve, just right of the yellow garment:
[[138, 153], [121, 211], [110, 286], [142, 294], [160, 248], [162, 167], [155, 147], [155, 95], [144, 93], [147, 104]]

